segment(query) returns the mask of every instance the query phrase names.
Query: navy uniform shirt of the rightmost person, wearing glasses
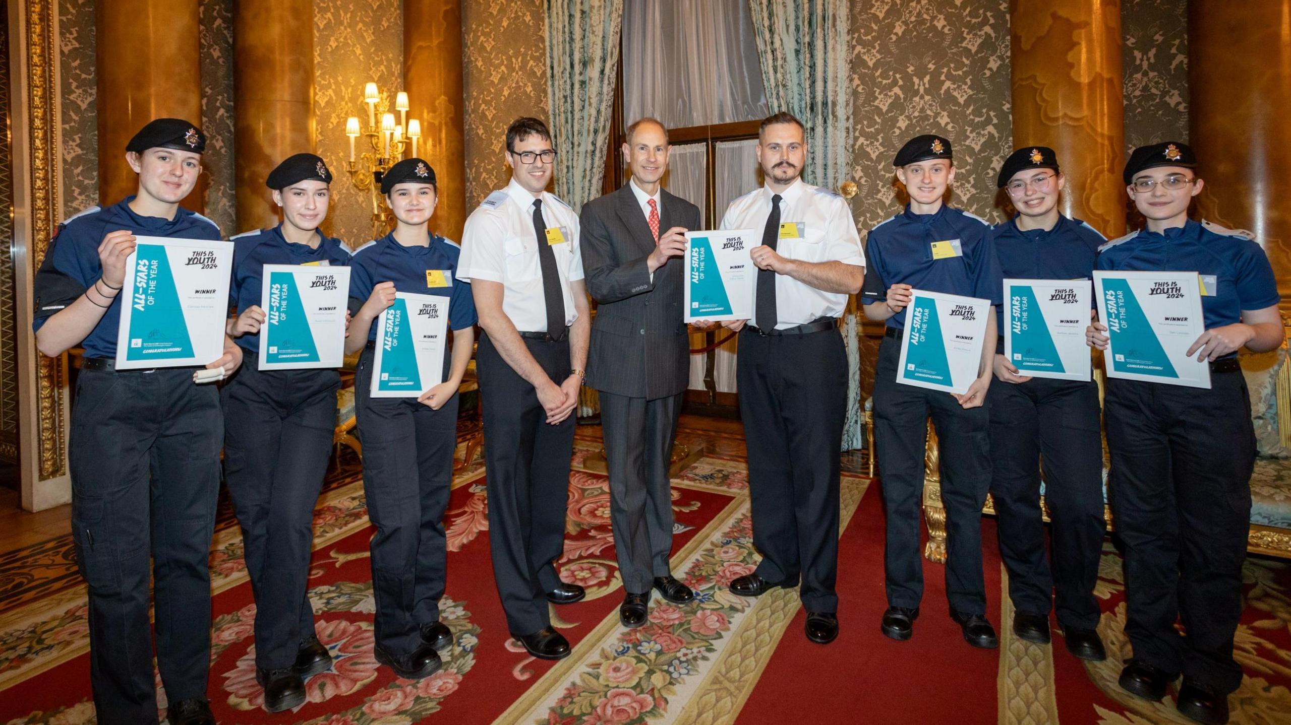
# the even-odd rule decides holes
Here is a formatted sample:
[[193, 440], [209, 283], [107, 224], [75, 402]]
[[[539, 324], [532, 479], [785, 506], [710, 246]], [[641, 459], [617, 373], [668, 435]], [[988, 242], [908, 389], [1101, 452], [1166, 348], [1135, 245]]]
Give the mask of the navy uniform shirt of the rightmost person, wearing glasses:
[[1105, 244], [1097, 264], [1100, 270], [1214, 276], [1214, 294], [1202, 295], [1207, 330], [1241, 323], [1242, 310], [1263, 310], [1282, 299], [1273, 267], [1259, 244], [1237, 232], [1211, 231], [1192, 219], [1164, 233], [1144, 230]]

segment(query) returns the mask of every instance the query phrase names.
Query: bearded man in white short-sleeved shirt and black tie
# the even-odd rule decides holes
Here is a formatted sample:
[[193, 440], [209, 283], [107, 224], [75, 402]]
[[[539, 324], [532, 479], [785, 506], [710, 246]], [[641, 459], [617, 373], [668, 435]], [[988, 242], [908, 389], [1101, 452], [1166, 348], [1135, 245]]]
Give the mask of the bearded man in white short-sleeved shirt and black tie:
[[[731, 582], [758, 596], [802, 579], [807, 639], [838, 636], [838, 477], [847, 401], [847, 353], [838, 317], [865, 280], [851, 210], [803, 183], [802, 121], [775, 114], [758, 132], [766, 186], [731, 203], [723, 230], [762, 230], [751, 320], [740, 330], [736, 383], [749, 449], [753, 543], [762, 562]], [[747, 324], [746, 324], [747, 323]]]

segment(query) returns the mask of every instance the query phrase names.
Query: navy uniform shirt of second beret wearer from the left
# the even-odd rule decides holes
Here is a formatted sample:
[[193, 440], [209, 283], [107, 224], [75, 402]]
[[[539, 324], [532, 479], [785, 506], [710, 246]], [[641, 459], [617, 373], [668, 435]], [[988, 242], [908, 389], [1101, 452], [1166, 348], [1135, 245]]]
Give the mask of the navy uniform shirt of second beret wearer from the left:
[[[265, 264], [319, 264], [349, 267], [350, 250], [340, 239], [319, 233], [318, 249], [293, 244], [283, 236], [283, 226], [240, 233], [234, 243], [234, 279], [229, 284], [229, 304], [238, 312], [259, 304]], [[234, 342], [243, 350], [259, 351], [259, 335], [244, 334]]]

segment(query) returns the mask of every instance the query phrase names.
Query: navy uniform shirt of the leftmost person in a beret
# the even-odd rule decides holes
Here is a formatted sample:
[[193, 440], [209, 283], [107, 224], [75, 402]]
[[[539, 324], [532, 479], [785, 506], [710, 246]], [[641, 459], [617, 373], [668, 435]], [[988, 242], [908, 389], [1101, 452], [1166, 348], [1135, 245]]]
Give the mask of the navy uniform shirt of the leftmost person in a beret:
[[[67, 307], [101, 276], [103, 266], [98, 261], [98, 245], [108, 232], [125, 230], [136, 236], [165, 236], [172, 239], [219, 240], [219, 227], [214, 222], [187, 209], [179, 208], [173, 219], [161, 217], [142, 217], [136, 214], [129, 203], [134, 196], [127, 196], [111, 206], [94, 206], [76, 214], [58, 226], [58, 233], [50, 241], [45, 259], [36, 271], [34, 330], [39, 330], [45, 320]], [[81, 342], [85, 357], [115, 357], [116, 332], [121, 319], [121, 298], [117, 293], [112, 304], [103, 311], [94, 329]]]

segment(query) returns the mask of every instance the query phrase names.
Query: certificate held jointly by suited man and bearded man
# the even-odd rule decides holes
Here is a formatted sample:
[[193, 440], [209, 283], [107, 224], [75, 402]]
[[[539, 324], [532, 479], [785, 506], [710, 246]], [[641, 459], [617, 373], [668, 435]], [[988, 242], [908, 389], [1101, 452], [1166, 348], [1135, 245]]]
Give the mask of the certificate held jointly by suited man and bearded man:
[[686, 321], [749, 320], [758, 267], [749, 257], [762, 245], [757, 230], [686, 232]]

